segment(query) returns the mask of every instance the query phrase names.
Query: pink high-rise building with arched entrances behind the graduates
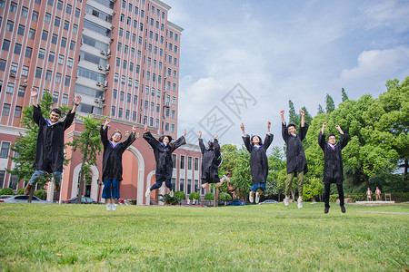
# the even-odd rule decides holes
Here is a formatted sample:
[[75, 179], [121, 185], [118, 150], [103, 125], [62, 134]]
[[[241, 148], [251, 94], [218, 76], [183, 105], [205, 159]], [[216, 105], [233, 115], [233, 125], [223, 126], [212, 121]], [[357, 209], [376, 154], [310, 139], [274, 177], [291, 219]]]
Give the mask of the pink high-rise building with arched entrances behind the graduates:
[[[173, 138], [177, 131], [180, 38], [183, 29], [167, 20], [170, 6], [158, 0], [0, 0], [0, 182], [16, 188], [5, 172], [30, 90], [50, 92], [55, 107], [72, 106], [82, 96], [78, 114], [107, 116], [111, 130], [138, 128], [135, 144], [124, 154], [125, 199], [148, 204], [144, 191], [155, 181], [153, 152], [142, 140], [147, 124], [154, 134]], [[84, 131], [76, 119], [66, 131], [72, 141]], [[76, 195], [81, 154], [65, 149], [61, 199]], [[183, 160], [191, 171], [181, 170]], [[175, 189], [198, 191], [200, 152], [186, 145], [175, 152]], [[178, 162], [178, 163], [177, 163]], [[182, 165], [185, 167], [185, 163]], [[85, 195], [100, 197], [102, 158], [92, 169]], [[190, 180], [190, 183], [185, 180]], [[53, 188], [49, 186], [49, 195]], [[155, 198], [155, 195], [153, 196]]]

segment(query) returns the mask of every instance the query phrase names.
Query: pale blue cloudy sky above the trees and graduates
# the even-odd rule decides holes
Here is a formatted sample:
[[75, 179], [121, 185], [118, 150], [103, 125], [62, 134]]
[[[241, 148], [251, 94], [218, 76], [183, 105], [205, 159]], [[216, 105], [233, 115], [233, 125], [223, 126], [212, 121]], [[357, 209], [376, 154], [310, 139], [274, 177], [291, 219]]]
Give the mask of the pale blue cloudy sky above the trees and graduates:
[[[409, 76], [409, 1], [165, 0], [181, 36], [178, 133], [241, 144], [240, 124], [283, 145], [288, 101], [315, 114]], [[193, 135], [192, 135], [193, 136]], [[192, 137], [191, 136], [191, 137]], [[195, 137], [192, 137], [193, 141]]]

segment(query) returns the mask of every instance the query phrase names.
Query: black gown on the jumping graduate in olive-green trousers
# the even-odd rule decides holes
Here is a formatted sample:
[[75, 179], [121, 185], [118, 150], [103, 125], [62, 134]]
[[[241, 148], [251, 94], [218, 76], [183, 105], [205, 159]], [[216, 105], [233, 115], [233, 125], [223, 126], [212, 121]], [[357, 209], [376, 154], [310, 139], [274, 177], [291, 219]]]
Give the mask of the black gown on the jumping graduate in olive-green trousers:
[[304, 124], [304, 127], [300, 125], [300, 133], [295, 137], [288, 133], [287, 126], [282, 124], [282, 134], [286, 146], [286, 156], [287, 156], [287, 174], [291, 172], [301, 172], [304, 174], [308, 171], [306, 165], [305, 153], [303, 143], [306, 132], [308, 131], [308, 124]]

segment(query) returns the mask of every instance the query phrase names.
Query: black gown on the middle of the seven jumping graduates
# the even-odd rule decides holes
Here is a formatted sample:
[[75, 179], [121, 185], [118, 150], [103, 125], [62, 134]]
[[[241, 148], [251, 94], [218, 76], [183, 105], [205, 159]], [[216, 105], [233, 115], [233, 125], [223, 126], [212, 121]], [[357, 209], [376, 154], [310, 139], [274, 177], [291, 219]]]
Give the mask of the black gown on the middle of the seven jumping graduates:
[[200, 151], [202, 151], [202, 180], [208, 183], [217, 183], [219, 179], [219, 164], [221, 162], [219, 141], [214, 139], [214, 148], [207, 149], [202, 139], [199, 139]]

